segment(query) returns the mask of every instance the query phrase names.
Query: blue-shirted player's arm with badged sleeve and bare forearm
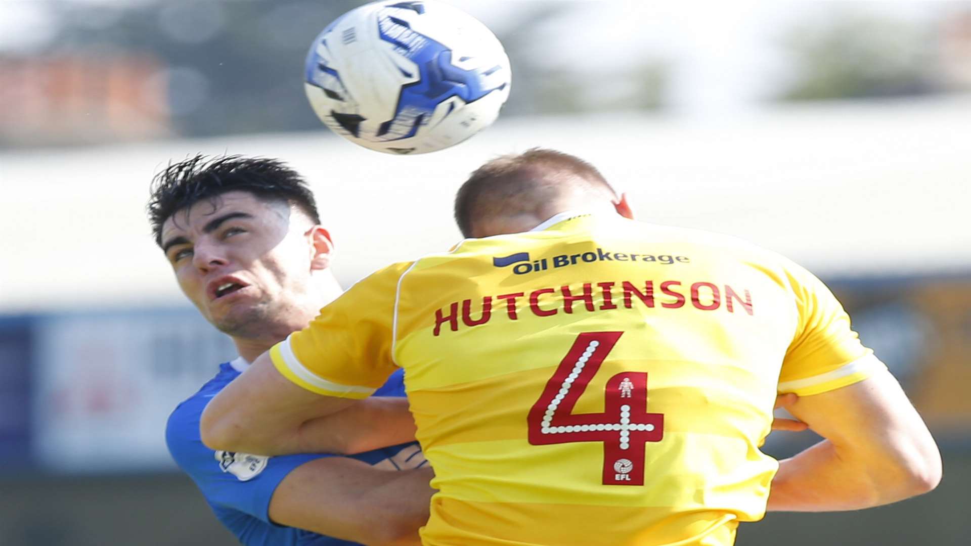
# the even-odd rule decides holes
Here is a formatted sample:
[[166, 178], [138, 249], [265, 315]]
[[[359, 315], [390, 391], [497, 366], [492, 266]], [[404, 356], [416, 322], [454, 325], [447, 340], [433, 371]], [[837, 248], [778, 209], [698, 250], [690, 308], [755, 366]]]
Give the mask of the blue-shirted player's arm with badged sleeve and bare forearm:
[[[398, 471], [318, 454], [214, 454], [198, 435], [199, 414], [206, 401], [190, 399], [173, 413], [166, 444], [214, 506], [364, 544], [418, 543], [418, 529], [428, 518], [433, 493], [428, 487], [432, 473], [423, 458], [413, 453], [400, 459], [404, 452], [399, 452], [393, 456], [400, 459], [395, 468], [411, 469]], [[277, 540], [271, 535], [265, 538]]]

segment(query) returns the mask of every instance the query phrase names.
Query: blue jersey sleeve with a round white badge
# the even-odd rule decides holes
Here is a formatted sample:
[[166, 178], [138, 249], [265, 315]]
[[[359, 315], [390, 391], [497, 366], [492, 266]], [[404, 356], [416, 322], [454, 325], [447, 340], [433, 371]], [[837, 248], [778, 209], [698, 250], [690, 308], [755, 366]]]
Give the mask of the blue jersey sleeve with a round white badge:
[[199, 436], [199, 418], [209, 398], [191, 398], [169, 417], [165, 441], [179, 467], [214, 506], [272, 524], [270, 499], [294, 468], [324, 454], [261, 457], [209, 449]]

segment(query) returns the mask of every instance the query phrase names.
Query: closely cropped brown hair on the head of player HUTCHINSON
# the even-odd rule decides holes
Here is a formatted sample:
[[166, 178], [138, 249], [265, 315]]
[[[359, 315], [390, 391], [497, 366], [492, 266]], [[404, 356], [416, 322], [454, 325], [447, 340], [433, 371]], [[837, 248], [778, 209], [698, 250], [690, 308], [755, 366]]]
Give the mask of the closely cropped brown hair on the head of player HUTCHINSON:
[[572, 182], [583, 179], [587, 186], [605, 188], [614, 194], [614, 188], [596, 167], [576, 155], [555, 150], [531, 148], [522, 154], [500, 155], [487, 161], [472, 173], [469, 180], [455, 194], [455, 222], [462, 235], [472, 235], [473, 219], [489, 209], [486, 201], [495, 197], [516, 202], [531, 188], [557, 184], [561, 175], [569, 175]]

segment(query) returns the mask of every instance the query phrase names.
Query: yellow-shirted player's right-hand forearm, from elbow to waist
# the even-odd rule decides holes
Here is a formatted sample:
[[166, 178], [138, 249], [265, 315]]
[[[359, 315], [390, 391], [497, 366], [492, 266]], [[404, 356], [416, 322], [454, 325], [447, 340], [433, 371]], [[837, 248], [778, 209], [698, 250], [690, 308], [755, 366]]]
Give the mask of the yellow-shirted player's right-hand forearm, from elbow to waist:
[[767, 510], [858, 510], [926, 493], [940, 474], [914, 461], [873, 461], [840, 450], [829, 440], [780, 461]]

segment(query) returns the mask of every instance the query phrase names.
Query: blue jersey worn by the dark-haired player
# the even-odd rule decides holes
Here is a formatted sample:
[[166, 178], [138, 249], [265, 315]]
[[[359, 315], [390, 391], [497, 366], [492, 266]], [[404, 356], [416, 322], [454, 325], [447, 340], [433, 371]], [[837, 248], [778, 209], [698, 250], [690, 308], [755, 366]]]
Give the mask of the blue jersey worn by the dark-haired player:
[[[169, 453], [192, 478], [222, 525], [247, 546], [336, 546], [354, 544], [316, 532], [278, 526], [268, 510], [273, 492], [286, 474], [304, 462], [327, 454], [257, 457], [213, 451], [199, 437], [199, 418], [206, 404], [245, 369], [241, 358], [219, 365], [219, 372], [176, 407], [165, 428]], [[402, 372], [394, 373], [376, 396], [404, 396]], [[350, 456], [386, 468], [417, 468], [425, 464], [418, 442]]]

